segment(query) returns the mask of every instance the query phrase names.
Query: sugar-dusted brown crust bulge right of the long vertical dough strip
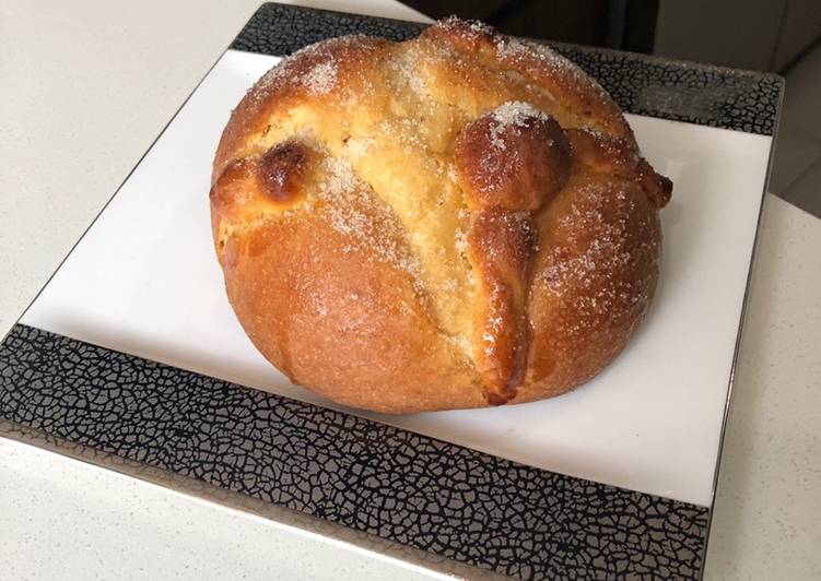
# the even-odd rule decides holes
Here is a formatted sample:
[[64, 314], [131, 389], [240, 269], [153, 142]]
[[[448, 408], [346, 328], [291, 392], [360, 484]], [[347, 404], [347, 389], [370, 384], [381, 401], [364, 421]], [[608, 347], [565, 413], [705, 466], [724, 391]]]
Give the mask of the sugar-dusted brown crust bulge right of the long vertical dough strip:
[[656, 287], [661, 230], [641, 187], [575, 175], [540, 216], [528, 377], [518, 401], [584, 383], [626, 345]]

